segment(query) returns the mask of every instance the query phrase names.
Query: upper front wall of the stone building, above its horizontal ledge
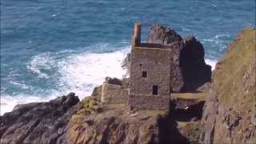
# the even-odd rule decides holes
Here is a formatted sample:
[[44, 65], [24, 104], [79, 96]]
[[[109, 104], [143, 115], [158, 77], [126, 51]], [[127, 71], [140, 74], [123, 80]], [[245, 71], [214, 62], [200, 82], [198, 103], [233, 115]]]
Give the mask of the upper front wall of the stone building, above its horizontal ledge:
[[[131, 51], [130, 94], [170, 95], [170, 49], [133, 47]], [[146, 71], [146, 78], [142, 77]]]

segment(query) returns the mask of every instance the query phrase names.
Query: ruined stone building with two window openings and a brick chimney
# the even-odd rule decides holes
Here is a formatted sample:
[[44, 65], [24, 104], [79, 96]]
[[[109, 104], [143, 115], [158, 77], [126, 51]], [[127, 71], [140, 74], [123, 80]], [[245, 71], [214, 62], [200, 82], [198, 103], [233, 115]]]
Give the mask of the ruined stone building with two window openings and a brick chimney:
[[141, 43], [141, 25], [134, 25], [128, 98], [130, 107], [169, 110], [170, 56], [170, 46]]

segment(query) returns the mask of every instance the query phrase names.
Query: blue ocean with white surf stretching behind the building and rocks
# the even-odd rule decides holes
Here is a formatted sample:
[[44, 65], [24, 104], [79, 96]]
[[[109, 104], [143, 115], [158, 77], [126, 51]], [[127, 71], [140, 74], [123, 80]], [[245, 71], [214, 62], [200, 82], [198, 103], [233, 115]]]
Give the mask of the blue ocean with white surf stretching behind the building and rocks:
[[122, 78], [134, 22], [142, 41], [154, 23], [196, 36], [214, 69], [254, 14], [254, 0], [2, 0], [0, 114]]

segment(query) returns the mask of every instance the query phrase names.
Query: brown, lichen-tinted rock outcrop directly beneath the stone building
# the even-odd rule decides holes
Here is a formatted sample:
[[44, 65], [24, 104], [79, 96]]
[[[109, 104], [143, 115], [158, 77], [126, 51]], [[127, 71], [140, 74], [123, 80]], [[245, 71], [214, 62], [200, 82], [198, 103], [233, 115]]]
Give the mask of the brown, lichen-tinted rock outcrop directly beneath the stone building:
[[159, 143], [159, 111], [132, 112], [122, 104], [102, 105], [94, 98], [78, 104], [66, 133], [67, 143]]

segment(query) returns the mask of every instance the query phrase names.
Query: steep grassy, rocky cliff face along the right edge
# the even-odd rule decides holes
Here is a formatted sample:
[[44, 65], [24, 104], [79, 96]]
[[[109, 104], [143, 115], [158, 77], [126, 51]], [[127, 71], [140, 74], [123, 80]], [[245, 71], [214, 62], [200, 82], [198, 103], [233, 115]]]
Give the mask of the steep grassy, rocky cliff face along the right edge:
[[218, 62], [202, 118], [203, 143], [256, 143], [256, 30], [246, 28]]

